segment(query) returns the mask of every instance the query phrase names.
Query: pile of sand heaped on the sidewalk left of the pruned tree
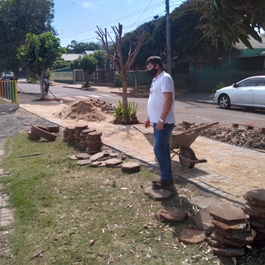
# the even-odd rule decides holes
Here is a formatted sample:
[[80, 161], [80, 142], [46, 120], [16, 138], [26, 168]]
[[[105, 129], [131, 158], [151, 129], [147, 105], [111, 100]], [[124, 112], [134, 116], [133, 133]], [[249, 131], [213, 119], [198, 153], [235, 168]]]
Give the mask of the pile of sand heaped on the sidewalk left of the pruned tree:
[[78, 100], [69, 107], [55, 114], [61, 119], [102, 121], [105, 120], [104, 114], [88, 100]]

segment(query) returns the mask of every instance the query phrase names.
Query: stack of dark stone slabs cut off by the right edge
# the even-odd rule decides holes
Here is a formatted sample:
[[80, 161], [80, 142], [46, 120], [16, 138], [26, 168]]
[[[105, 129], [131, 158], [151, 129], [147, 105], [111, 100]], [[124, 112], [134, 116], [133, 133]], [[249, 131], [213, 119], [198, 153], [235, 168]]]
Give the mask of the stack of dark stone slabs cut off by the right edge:
[[247, 203], [242, 208], [251, 228], [256, 232], [253, 244], [257, 247], [265, 246], [265, 190], [255, 189], [244, 195]]

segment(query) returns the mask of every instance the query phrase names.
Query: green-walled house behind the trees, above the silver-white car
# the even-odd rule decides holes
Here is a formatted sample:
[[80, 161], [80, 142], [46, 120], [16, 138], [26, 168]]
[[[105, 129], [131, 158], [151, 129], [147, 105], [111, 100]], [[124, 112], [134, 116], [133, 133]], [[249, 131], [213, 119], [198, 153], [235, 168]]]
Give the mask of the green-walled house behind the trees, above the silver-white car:
[[[252, 37], [249, 39], [254, 50], [248, 49], [242, 42], [236, 43], [231, 51], [224, 51], [213, 61], [205, 63], [203, 70], [237, 69], [262, 70], [265, 69], [265, 37], [262, 43]], [[214, 50], [212, 55], [214, 55]], [[174, 74], [189, 74], [191, 70], [199, 70], [198, 64], [187, 57], [182, 57], [172, 69]]]

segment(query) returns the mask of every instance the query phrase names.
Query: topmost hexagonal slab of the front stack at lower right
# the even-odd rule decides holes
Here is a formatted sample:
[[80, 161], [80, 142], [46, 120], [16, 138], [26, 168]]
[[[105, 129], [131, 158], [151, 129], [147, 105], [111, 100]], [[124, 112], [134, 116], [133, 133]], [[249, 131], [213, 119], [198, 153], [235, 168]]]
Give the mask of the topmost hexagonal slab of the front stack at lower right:
[[221, 220], [230, 224], [245, 220], [242, 209], [224, 203], [212, 204], [210, 206], [210, 215], [217, 220]]

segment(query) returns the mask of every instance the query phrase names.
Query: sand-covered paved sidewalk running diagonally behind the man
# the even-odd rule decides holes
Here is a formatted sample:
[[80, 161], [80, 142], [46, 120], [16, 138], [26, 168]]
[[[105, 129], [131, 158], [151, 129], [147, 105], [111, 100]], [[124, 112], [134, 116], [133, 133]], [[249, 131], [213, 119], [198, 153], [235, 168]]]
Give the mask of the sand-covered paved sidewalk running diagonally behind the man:
[[[62, 120], [53, 115], [54, 112], [59, 112], [66, 107], [64, 104], [38, 102], [21, 104], [21, 107], [61, 126], [73, 125], [72, 120]], [[152, 146], [141, 132], [132, 126], [115, 125], [110, 121], [111, 117], [107, 121], [90, 122], [89, 126], [103, 132], [102, 139], [105, 145], [123, 151], [131, 158], [158, 167]], [[82, 120], [75, 123], [82, 122], [87, 123]], [[138, 126], [144, 129], [143, 125]], [[191, 147], [198, 158], [205, 157], [208, 162], [188, 169], [180, 165], [178, 157], [174, 157], [172, 169], [175, 178], [241, 204], [245, 202], [243, 196], [247, 191], [265, 188], [265, 153], [203, 137], [199, 137]]]

